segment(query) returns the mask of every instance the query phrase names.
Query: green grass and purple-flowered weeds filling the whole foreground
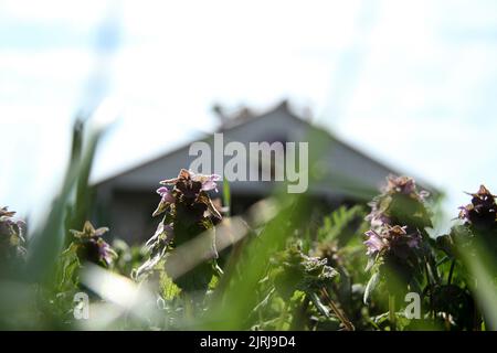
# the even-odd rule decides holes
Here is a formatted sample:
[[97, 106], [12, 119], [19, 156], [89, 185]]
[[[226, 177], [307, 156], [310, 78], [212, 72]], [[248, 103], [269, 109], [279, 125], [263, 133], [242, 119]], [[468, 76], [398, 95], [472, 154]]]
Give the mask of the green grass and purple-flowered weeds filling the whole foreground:
[[87, 221], [97, 140], [83, 148], [75, 129], [64, 184], [29, 234], [0, 208], [1, 329], [497, 328], [497, 205], [484, 185], [434, 235], [435, 203], [408, 176], [389, 176], [370, 208], [315, 220], [306, 195], [275, 195], [231, 217], [228, 184], [221, 207], [216, 175], [181, 170], [157, 190], [157, 232], [129, 247]]

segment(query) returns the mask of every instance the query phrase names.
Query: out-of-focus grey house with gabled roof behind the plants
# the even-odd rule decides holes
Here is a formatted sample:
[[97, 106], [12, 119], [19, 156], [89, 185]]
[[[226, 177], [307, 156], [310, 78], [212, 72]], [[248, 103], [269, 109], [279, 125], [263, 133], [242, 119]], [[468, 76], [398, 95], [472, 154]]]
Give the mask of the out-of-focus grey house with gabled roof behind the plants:
[[[308, 118], [297, 116], [286, 101], [265, 114], [243, 109], [235, 115], [226, 115], [219, 107], [215, 111], [221, 120], [218, 132], [223, 132], [224, 145], [229, 141], [245, 146], [262, 141], [308, 141], [308, 192], [316, 204], [335, 207], [342, 203], [364, 202], [378, 192], [387, 175], [398, 174], [326, 129], [313, 125]], [[212, 146], [213, 136], [205, 137], [203, 141]], [[177, 176], [181, 168], [189, 168], [197, 158], [189, 156], [189, 148], [190, 143], [101, 181], [96, 185], [99, 224], [109, 225], [115, 235], [130, 243], [150, 237], [157, 225], [151, 213], [159, 202], [159, 195], [155, 193], [158, 182]], [[224, 158], [224, 162], [228, 159]], [[247, 172], [250, 169], [261, 169], [261, 165], [246, 167]], [[230, 182], [232, 214], [242, 213], [254, 202], [268, 196], [276, 184], [281, 183]], [[222, 189], [220, 185], [220, 193]]]

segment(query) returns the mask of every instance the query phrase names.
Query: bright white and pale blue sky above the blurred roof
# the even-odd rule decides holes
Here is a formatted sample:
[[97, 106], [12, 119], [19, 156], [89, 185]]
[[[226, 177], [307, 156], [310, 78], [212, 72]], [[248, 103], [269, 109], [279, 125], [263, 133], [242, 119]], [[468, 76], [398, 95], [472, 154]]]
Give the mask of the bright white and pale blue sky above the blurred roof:
[[496, 63], [494, 0], [1, 0], [0, 203], [49, 204], [101, 98], [120, 119], [94, 180], [212, 131], [214, 103], [288, 98], [455, 216], [464, 191], [497, 190]]

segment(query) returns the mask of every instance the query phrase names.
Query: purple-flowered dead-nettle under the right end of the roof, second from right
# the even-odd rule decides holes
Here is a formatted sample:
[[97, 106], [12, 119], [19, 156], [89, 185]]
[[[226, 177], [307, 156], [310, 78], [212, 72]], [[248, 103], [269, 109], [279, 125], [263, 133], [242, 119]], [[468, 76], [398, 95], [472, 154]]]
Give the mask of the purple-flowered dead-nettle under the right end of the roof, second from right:
[[[425, 228], [432, 226], [425, 205], [429, 195], [417, 191], [412, 178], [387, 179], [382, 193], [369, 204], [371, 213], [366, 217], [370, 229], [366, 232], [366, 270], [372, 276], [366, 287], [367, 303], [378, 285], [384, 285], [389, 293], [390, 321], [394, 324], [395, 300], [403, 295], [421, 292], [422, 286], [436, 280], [434, 254]], [[401, 296], [402, 295], [402, 296]]]

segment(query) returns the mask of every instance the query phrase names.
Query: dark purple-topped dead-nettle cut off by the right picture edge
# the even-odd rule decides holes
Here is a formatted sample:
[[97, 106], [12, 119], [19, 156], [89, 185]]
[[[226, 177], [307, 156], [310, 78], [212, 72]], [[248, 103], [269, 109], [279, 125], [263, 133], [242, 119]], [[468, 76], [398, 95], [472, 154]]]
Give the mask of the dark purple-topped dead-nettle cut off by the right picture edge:
[[[476, 299], [486, 291], [486, 296], [497, 292], [495, 258], [497, 258], [497, 204], [494, 195], [485, 185], [480, 185], [475, 193], [468, 193], [470, 203], [459, 207], [456, 224], [451, 232], [436, 238], [437, 247], [446, 255], [451, 263], [446, 290], [445, 306], [450, 303], [454, 321], [463, 329], [480, 330], [485, 318], [479, 312], [484, 303], [476, 304]], [[475, 264], [476, 267], [475, 267]], [[488, 278], [478, 278], [477, 267], [488, 271]], [[457, 270], [458, 269], [458, 270]], [[482, 269], [480, 269], [482, 270]], [[483, 280], [487, 281], [483, 284]], [[464, 285], [464, 286], [462, 286]], [[483, 288], [486, 286], [486, 288]], [[494, 295], [491, 293], [494, 292]], [[493, 301], [495, 299], [491, 299]], [[486, 321], [488, 329], [495, 330], [495, 319]]]

